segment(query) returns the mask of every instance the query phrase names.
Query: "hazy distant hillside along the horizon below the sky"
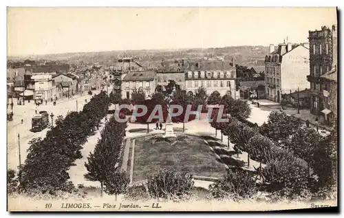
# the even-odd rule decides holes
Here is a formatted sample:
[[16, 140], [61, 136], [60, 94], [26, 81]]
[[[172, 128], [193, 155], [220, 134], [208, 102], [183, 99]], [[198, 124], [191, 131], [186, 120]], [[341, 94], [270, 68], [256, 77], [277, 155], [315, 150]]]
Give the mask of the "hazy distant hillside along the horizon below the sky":
[[268, 54], [267, 46], [233, 46], [215, 48], [194, 48], [176, 50], [127, 50], [109, 52], [85, 52], [65, 54], [44, 54], [23, 57], [8, 57], [12, 61], [61, 61], [70, 65], [98, 64], [112, 65], [118, 58], [123, 56], [136, 56], [138, 61], [145, 67], [148, 65], [159, 65], [161, 61], [175, 61], [188, 59], [190, 61], [220, 61], [228, 62], [235, 58], [235, 63], [240, 65], [264, 65], [264, 57]]

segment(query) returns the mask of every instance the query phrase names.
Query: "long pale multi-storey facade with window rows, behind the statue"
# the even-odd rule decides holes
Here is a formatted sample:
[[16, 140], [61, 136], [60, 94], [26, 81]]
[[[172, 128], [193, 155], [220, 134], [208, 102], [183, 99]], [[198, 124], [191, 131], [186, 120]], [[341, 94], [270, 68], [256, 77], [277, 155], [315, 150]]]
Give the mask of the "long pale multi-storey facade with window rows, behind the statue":
[[195, 94], [199, 87], [204, 87], [207, 94], [218, 91], [221, 96], [230, 94], [233, 98], [239, 98], [235, 78], [235, 67], [228, 71], [188, 71], [185, 73], [185, 90], [188, 94]]

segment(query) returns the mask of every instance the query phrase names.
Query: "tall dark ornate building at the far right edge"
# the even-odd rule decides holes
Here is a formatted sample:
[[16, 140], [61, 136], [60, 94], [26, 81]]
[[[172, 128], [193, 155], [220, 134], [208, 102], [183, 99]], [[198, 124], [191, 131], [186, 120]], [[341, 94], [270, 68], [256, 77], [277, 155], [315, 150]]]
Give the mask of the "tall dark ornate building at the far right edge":
[[[310, 113], [323, 115], [324, 121], [328, 122], [330, 87], [336, 84], [337, 71], [337, 30], [336, 25], [332, 28], [326, 26], [321, 30], [309, 31], [310, 41], [310, 74], [307, 76], [310, 82], [312, 107]], [[331, 76], [330, 76], [331, 75]], [[330, 78], [330, 79], [329, 79]], [[327, 109], [327, 110], [324, 110]]]

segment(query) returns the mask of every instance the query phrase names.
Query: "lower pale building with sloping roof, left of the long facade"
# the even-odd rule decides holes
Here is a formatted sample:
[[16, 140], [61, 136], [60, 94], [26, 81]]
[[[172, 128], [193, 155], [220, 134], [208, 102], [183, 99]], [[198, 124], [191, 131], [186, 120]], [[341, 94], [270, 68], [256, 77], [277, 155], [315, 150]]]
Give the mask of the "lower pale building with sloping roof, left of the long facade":
[[157, 75], [152, 71], [129, 72], [122, 79], [122, 98], [131, 98], [135, 89], [142, 89], [146, 96], [155, 92]]

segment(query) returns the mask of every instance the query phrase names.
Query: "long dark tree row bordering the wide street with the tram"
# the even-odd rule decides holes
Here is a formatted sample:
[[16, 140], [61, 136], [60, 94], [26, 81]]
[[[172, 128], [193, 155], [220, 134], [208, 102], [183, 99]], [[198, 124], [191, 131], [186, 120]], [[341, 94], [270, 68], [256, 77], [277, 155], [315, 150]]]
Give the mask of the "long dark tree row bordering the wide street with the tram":
[[44, 139], [30, 141], [28, 157], [19, 171], [19, 191], [25, 193], [71, 192], [74, 184], [69, 182], [67, 171], [75, 160], [82, 157], [80, 150], [87, 142], [100, 119], [107, 113], [109, 98], [105, 92], [94, 96], [83, 111], [68, 113], [56, 119], [56, 125]]

